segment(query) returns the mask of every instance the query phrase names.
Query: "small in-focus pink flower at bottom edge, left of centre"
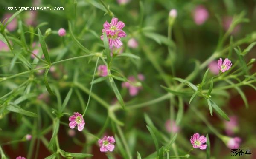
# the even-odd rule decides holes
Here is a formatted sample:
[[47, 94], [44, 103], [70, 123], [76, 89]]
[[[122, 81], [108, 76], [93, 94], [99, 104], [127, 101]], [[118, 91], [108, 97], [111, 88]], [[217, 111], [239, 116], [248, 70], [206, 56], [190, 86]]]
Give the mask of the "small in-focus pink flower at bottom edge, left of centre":
[[115, 145], [113, 145], [113, 143], [115, 143], [116, 141], [113, 136], [105, 136], [103, 137], [103, 139], [99, 139], [98, 142], [101, 152], [112, 152], [115, 148]]

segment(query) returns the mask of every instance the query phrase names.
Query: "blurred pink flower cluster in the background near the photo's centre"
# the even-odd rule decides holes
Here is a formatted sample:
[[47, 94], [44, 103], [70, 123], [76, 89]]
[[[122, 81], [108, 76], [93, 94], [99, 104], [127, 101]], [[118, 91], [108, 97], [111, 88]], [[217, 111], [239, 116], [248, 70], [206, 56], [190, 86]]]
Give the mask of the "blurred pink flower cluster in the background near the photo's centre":
[[[138, 74], [137, 78], [140, 81], [145, 80], [145, 77], [143, 76], [143, 74]], [[132, 82], [134, 85], [131, 85], [131, 83], [129, 82], [122, 82], [122, 88], [128, 88], [129, 89], [129, 94], [131, 96], [136, 96], [139, 93], [139, 90], [142, 89], [141, 86], [136, 85], [136, 83], [138, 82], [137, 79], [134, 76], [130, 76], [128, 77], [128, 80], [130, 82]]]

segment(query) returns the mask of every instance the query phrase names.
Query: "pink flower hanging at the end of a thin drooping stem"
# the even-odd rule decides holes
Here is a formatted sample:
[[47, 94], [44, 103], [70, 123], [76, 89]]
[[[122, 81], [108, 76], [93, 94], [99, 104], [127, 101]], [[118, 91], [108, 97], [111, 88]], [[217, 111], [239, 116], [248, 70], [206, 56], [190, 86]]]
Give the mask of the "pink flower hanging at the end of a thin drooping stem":
[[78, 131], [82, 131], [85, 125], [84, 118], [80, 113], [74, 113], [74, 114], [75, 115], [70, 116], [68, 119], [70, 121], [69, 127], [73, 129], [77, 125]]

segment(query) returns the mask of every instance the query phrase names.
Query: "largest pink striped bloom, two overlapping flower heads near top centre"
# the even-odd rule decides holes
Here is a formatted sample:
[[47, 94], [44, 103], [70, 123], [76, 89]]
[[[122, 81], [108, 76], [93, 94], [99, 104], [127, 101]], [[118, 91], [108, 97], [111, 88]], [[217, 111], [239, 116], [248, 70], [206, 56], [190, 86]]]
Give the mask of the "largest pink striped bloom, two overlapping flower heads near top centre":
[[[114, 46], [120, 48], [122, 46], [120, 38], [126, 37], [126, 33], [122, 30], [122, 28], [125, 27], [125, 23], [118, 21], [117, 18], [112, 18], [111, 23], [106, 21], [103, 27], [102, 33], [105, 32], [107, 34], [109, 47], [112, 48]], [[101, 39], [103, 40], [103, 35]]]

